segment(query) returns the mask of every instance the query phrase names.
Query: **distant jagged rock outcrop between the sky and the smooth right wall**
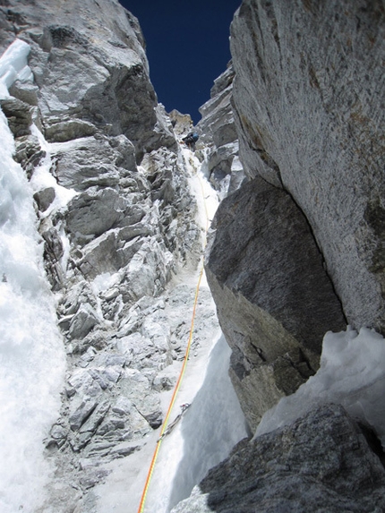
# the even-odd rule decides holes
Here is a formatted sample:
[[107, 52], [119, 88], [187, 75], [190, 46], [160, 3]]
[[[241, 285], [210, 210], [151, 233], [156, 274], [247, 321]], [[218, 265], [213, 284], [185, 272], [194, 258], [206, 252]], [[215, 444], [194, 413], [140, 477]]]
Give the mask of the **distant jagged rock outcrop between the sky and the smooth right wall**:
[[197, 125], [205, 150], [206, 173], [210, 184], [218, 190], [220, 199], [234, 192], [244, 180], [243, 167], [238, 158], [238, 136], [235, 130], [231, 98], [235, 72], [228, 64], [210, 91], [210, 100], [200, 107], [201, 121]]

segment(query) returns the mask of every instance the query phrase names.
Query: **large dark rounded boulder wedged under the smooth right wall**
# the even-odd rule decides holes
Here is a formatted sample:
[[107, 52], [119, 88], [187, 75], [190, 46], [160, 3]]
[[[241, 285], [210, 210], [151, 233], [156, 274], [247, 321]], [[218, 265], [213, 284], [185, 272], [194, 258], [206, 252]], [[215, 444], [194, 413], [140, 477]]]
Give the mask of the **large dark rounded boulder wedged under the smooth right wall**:
[[319, 366], [344, 316], [311, 229], [287, 192], [255, 178], [219, 205], [206, 272], [252, 430]]

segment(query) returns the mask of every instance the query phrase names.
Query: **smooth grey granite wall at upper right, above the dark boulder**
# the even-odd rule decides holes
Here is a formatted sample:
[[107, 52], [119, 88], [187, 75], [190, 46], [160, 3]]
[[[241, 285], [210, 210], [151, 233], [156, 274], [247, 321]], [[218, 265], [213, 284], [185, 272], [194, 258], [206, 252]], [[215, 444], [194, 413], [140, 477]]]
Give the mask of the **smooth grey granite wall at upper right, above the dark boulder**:
[[247, 175], [289, 192], [354, 327], [384, 332], [384, 8], [244, 0], [231, 27]]

